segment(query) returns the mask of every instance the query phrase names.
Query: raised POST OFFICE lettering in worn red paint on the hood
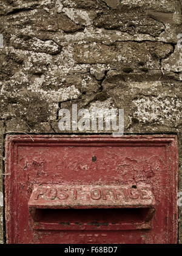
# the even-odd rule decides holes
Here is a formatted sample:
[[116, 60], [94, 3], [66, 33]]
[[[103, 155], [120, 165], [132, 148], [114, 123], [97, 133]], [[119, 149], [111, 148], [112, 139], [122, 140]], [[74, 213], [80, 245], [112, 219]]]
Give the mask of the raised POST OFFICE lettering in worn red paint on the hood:
[[128, 201], [136, 199], [152, 199], [151, 193], [146, 188], [132, 189], [130, 187], [38, 187], [33, 192], [34, 200], [61, 200], [73, 201], [81, 198], [92, 201]]

